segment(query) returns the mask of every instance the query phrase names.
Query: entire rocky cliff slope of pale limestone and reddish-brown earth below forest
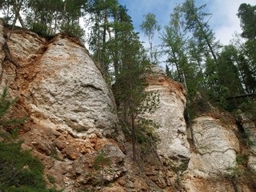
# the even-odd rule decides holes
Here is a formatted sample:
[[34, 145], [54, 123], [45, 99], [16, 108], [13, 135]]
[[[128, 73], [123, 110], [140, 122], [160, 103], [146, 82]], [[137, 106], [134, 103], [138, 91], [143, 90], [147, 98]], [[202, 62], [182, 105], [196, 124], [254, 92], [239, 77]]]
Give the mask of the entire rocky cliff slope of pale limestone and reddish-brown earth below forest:
[[[19, 98], [10, 115], [27, 117], [22, 147], [42, 160], [49, 186], [100, 191], [103, 181], [103, 191], [255, 191], [255, 146], [242, 143], [234, 118], [202, 114], [189, 129], [186, 91], [161, 70], [154, 69], [146, 88], [160, 98], [158, 110], [147, 114], [160, 125], [158, 142], [137, 164], [113, 94], [82, 43], [62, 34], [48, 42], [25, 30], [7, 39], [9, 33], [0, 23], [0, 85]], [[244, 114], [237, 122], [254, 141], [254, 122]], [[110, 160], [102, 162], [103, 177], [95, 169], [99, 157]]]

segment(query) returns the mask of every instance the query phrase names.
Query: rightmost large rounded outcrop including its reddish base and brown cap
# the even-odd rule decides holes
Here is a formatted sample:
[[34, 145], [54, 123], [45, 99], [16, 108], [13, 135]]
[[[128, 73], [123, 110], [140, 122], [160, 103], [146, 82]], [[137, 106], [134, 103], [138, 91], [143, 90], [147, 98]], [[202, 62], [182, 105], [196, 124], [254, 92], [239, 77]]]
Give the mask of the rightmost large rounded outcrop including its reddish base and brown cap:
[[206, 114], [195, 118], [191, 129], [194, 147], [184, 172], [186, 191], [253, 191], [251, 183], [243, 181], [247, 170], [239, 162], [241, 143], [234, 118], [225, 113]]

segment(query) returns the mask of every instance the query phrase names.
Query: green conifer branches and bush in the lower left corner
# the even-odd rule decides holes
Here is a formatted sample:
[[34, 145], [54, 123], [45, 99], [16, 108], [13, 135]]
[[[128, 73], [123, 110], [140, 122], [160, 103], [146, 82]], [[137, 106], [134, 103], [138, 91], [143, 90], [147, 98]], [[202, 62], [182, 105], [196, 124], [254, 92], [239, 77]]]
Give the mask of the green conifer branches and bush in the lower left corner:
[[[10, 99], [5, 87], [0, 97], [0, 126], [20, 124], [24, 119], [6, 117], [16, 99]], [[5, 132], [4, 132], [5, 133]], [[46, 189], [42, 163], [29, 151], [22, 150], [22, 142], [13, 136], [17, 129], [6, 133], [0, 141], [0, 190], [3, 192], [29, 191], [54, 192]]]

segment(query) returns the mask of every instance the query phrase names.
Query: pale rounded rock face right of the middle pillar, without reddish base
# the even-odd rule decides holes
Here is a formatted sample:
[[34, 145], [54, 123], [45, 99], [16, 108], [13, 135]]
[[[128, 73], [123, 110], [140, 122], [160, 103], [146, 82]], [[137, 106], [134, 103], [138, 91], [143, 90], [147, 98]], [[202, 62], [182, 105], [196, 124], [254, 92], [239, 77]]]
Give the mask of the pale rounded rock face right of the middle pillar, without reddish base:
[[239, 152], [238, 138], [220, 120], [202, 116], [194, 119], [194, 153], [191, 153], [189, 169], [194, 175], [207, 178], [224, 175], [236, 166]]

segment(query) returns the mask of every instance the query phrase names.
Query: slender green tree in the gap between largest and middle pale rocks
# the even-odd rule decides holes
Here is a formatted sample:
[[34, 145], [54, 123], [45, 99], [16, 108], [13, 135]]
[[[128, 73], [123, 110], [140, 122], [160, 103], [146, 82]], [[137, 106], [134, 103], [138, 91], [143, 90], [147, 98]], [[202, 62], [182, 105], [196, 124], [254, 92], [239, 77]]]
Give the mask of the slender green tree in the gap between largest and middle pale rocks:
[[[129, 61], [129, 57], [127, 57]], [[126, 62], [127, 62], [126, 61]], [[127, 67], [122, 71], [122, 76], [118, 76], [118, 82], [114, 87], [114, 95], [120, 103], [118, 114], [122, 122], [128, 127], [133, 143], [134, 160], [136, 160], [136, 143], [146, 142], [150, 129], [154, 123], [146, 121], [143, 114], [153, 113], [157, 109], [159, 98], [154, 92], [146, 92], [146, 67], [148, 62], [134, 61], [127, 63]], [[145, 68], [144, 68], [145, 67]], [[135, 119], [140, 119], [139, 121]]]

